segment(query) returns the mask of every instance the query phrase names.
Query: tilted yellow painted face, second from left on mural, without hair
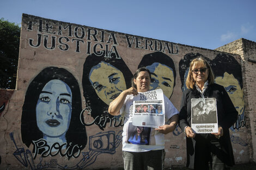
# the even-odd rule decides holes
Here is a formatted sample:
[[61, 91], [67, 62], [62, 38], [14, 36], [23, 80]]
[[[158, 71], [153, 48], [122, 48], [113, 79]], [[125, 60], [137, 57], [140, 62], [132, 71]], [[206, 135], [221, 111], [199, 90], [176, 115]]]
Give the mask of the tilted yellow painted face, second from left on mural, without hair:
[[104, 61], [92, 67], [89, 80], [97, 96], [107, 105], [126, 90], [123, 73]]

